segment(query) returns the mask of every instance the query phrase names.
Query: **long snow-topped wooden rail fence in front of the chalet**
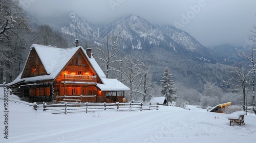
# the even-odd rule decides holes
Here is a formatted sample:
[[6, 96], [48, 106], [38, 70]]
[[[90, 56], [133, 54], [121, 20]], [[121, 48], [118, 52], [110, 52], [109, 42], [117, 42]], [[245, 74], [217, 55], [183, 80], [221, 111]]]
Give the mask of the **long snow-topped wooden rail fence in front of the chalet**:
[[95, 110], [115, 110], [115, 111], [142, 111], [158, 110], [158, 103], [141, 102], [141, 103], [70, 103], [62, 102], [60, 104], [43, 105], [44, 111], [53, 113], [73, 113], [73, 112], [90, 112]]

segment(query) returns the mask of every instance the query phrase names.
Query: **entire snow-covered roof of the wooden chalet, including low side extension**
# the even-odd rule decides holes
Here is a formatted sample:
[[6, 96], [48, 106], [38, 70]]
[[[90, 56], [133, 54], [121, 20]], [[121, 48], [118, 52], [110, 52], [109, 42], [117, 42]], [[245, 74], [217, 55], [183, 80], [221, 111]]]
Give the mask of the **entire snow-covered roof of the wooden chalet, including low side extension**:
[[[65, 65], [74, 56], [74, 54], [79, 49], [81, 49], [84, 55], [86, 55], [89, 62], [91, 63], [92, 68], [95, 70], [98, 77], [103, 82], [103, 84], [97, 84], [97, 86], [101, 90], [103, 91], [104, 90], [105, 91], [130, 90], [129, 87], [125, 86], [124, 84], [122, 84], [120, 81], [116, 79], [106, 79], [105, 74], [103, 73], [102, 69], [100, 68], [100, 66], [94, 59], [94, 57], [91, 56], [91, 58], [89, 58], [89, 56], [86, 53], [86, 50], [84, 50], [81, 46], [70, 47], [68, 49], [60, 49], [58, 47], [32, 44], [30, 47], [30, 51], [32, 51], [32, 49], [36, 51], [48, 75], [21, 79], [23, 72], [25, 72], [26, 70], [26, 69], [23, 69], [23, 72], [13, 82], [9, 83], [9, 85], [14, 85], [19, 82], [52, 80], [58, 76], [60, 71], [65, 67]], [[28, 62], [28, 59], [27, 59], [27, 62]]]

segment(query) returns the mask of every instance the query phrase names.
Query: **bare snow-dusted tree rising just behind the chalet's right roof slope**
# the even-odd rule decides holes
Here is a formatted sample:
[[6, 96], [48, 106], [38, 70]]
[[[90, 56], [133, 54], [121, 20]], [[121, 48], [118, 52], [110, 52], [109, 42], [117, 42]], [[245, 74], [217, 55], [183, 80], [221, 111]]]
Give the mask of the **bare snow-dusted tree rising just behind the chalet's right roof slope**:
[[106, 78], [109, 78], [111, 71], [117, 71], [121, 73], [114, 65], [117, 62], [123, 62], [124, 59], [118, 59], [117, 54], [120, 52], [118, 45], [121, 43], [118, 35], [109, 34], [105, 37], [105, 46], [99, 46], [97, 49], [102, 54], [102, 57], [97, 57], [102, 64], [101, 67], [104, 68], [106, 73]]

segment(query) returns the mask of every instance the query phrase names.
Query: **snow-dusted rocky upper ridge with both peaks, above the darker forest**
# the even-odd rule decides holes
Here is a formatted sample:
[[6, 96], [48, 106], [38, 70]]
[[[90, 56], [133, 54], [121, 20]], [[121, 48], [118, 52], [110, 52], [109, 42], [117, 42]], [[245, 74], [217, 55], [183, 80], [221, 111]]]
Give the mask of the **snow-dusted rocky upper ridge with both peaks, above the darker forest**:
[[82, 37], [98, 44], [104, 44], [103, 38], [110, 33], [120, 35], [119, 38], [122, 39], [120, 46], [126, 52], [148, 51], [152, 47], [161, 47], [196, 61], [226, 64], [229, 62], [225, 61], [225, 57], [200, 44], [187, 32], [172, 25], [153, 25], [133, 14], [120, 17], [104, 26], [94, 25], [75, 12], [57, 15], [55, 20], [42, 18], [42, 21], [47, 21], [48, 25], [61, 30], [63, 34], [74, 36], [74, 38]]

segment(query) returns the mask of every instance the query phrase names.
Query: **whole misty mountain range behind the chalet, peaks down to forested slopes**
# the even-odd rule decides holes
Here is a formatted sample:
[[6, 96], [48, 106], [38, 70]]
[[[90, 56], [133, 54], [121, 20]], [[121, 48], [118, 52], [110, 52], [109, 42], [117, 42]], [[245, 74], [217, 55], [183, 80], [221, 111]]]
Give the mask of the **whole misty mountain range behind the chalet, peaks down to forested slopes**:
[[[222, 79], [227, 78], [228, 65], [236, 61], [239, 49], [223, 45], [209, 49], [185, 31], [171, 25], [153, 25], [132, 14], [106, 25], [94, 25], [75, 12], [31, 19], [32, 26], [47, 24], [61, 32], [69, 46], [78, 38], [81, 44], [89, 43], [93, 48], [103, 45], [106, 35], [116, 34], [122, 39], [120, 47], [124, 53], [152, 65], [153, 81], [159, 82], [163, 67], [168, 66], [176, 82], [199, 90], [207, 81], [222, 85]], [[225, 53], [218, 52], [220, 47]]]

